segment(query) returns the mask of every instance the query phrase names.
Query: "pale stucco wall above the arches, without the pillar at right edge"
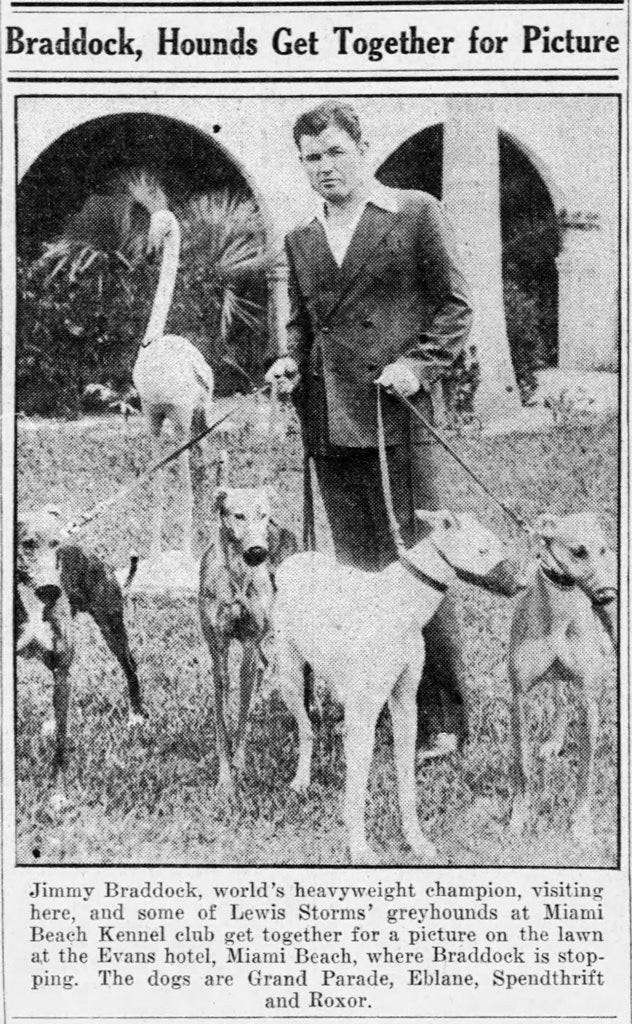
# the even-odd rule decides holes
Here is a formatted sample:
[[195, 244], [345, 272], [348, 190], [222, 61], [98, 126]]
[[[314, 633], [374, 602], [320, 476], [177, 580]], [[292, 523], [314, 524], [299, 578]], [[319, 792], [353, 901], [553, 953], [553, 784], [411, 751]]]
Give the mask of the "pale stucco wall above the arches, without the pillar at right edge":
[[[309, 209], [296, 161], [292, 125], [310, 105], [280, 98], [36, 98], [19, 100], [19, 174], [64, 132], [92, 118], [143, 112], [178, 118], [219, 142], [239, 162], [280, 230]], [[465, 102], [474, 103], [474, 98]], [[354, 99], [379, 166], [405, 139], [446, 118], [440, 97]], [[521, 144], [544, 177], [558, 210], [594, 211], [617, 220], [617, 100], [609, 96], [498, 97], [498, 127]], [[221, 131], [213, 133], [213, 125]]]

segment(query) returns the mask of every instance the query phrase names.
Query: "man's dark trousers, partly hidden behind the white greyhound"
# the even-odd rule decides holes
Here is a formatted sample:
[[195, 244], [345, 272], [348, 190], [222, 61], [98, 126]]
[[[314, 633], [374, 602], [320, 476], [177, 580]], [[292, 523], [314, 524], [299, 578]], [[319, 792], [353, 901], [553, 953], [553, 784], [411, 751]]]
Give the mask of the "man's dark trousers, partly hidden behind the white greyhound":
[[[436, 446], [428, 442], [388, 449], [393, 506], [407, 547], [422, 532], [415, 509], [437, 508], [435, 458]], [[349, 449], [343, 455], [317, 456], [314, 466], [338, 560], [367, 571], [379, 571], [393, 562], [397, 554], [388, 528], [378, 453]], [[417, 695], [419, 738], [426, 741], [434, 732], [454, 732], [462, 741], [467, 735], [465, 666], [449, 595], [425, 627], [424, 637], [426, 663]]]

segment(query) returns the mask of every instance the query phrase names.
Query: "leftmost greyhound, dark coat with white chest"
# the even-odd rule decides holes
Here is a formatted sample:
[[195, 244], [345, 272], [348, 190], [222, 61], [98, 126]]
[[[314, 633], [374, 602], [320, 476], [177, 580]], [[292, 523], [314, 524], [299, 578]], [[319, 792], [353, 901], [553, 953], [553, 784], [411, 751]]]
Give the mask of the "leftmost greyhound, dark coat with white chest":
[[[33, 512], [17, 522], [15, 571], [15, 646], [24, 657], [37, 657], [53, 677], [53, 718], [44, 735], [54, 738], [51, 806], [66, 803], [66, 739], [75, 655], [74, 618], [87, 611], [121, 666], [129, 688], [130, 725], [145, 718], [136, 665], [123, 620], [123, 591], [100, 558], [68, 543], [58, 509]], [[127, 584], [137, 558], [132, 556]]]

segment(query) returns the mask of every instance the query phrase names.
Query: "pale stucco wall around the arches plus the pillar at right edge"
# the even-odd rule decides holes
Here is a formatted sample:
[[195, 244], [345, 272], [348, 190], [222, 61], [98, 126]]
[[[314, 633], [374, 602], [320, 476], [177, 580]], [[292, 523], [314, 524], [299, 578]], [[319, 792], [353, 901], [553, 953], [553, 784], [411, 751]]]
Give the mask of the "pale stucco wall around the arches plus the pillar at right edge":
[[[271, 240], [280, 243], [311, 208], [292, 125], [313, 102], [305, 97], [26, 97], [18, 108], [18, 171], [24, 174], [60, 135], [91, 119], [134, 112], [175, 118], [207, 132], [236, 161], [261, 203]], [[450, 105], [447, 98], [432, 96], [354, 98], [353, 102], [376, 168], [411, 135], [444, 122]], [[586, 232], [580, 227], [564, 234], [559, 263], [560, 362], [587, 368], [612, 364], [618, 340], [618, 100], [503, 96], [484, 102], [497, 127], [511, 135], [540, 171], [557, 213], [579, 215], [580, 223], [587, 215], [597, 216], [598, 230]], [[459, 101], [465, 108], [476, 103], [480, 100], [475, 97]]]

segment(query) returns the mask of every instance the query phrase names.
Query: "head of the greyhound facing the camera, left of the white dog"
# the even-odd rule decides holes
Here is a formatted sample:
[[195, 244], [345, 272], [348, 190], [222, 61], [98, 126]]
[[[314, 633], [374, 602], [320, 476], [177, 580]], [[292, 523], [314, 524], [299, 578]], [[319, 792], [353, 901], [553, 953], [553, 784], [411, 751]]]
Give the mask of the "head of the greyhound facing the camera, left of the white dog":
[[218, 487], [215, 505], [221, 528], [247, 565], [260, 565], [269, 554], [272, 490], [264, 487]]

